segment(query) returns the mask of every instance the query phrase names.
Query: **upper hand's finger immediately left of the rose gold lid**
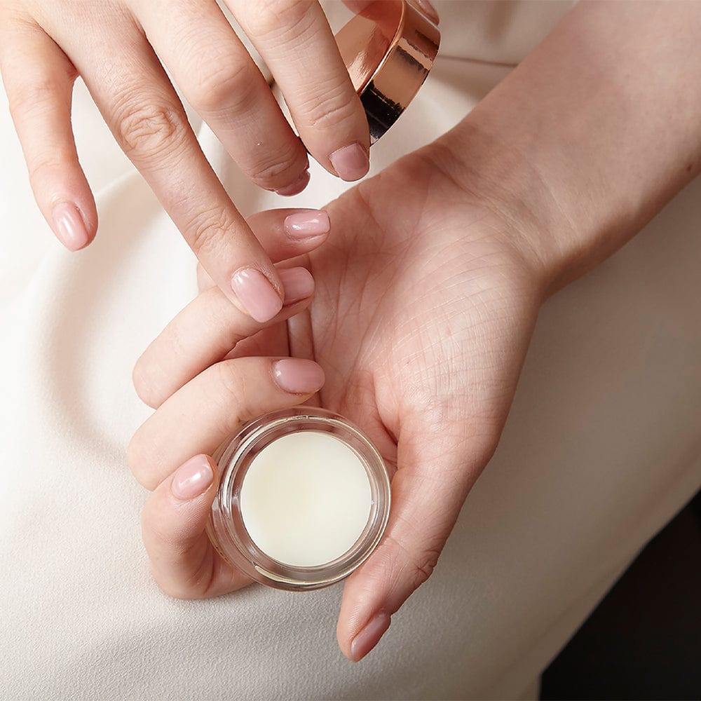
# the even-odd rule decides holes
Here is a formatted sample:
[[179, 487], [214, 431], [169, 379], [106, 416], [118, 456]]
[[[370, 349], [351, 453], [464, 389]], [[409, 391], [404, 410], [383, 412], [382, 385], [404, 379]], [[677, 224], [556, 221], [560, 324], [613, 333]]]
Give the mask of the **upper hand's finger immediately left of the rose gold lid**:
[[367, 117], [316, 0], [226, 0], [271, 69], [304, 145], [329, 172], [369, 169]]

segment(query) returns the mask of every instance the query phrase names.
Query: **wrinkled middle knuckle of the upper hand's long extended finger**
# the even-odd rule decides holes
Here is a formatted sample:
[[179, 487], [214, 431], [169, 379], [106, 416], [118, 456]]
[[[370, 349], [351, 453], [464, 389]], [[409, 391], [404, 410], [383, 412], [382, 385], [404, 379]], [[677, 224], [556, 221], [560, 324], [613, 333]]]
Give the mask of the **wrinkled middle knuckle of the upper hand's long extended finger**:
[[128, 156], [150, 158], [174, 151], [185, 140], [182, 111], [167, 104], [128, 99], [116, 110], [116, 138]]

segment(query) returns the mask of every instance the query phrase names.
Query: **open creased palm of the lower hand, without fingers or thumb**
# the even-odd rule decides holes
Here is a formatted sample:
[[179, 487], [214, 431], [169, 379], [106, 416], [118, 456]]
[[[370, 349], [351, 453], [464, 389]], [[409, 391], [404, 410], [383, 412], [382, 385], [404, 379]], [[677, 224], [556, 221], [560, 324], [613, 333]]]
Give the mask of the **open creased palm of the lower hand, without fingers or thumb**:
[[538, 306], [496, 217], [426, 150], [328, 210], [332, 237], [311, 254], [315, 299], [288, 325], [291, 353], [313, 348], [325, 369], [322, 404], [362, 425], [391, 463], [407, 422], [491, 451]]

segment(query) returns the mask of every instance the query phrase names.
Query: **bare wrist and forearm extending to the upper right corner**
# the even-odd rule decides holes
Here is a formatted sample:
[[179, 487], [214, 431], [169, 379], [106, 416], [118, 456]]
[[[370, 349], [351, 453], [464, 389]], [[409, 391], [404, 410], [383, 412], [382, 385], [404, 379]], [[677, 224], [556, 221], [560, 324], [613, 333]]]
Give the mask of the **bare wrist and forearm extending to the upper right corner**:
[[545, 294], [618, 250], [701, 172], [692, 5], [578, 4], [436, 142]]

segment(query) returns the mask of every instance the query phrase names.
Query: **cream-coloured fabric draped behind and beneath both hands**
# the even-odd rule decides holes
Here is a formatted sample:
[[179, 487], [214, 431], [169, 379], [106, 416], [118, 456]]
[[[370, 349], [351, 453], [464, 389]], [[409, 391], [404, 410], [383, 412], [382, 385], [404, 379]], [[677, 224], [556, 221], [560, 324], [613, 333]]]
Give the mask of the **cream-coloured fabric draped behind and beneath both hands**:
[[[374, 172], [454, 124], [508, 72], [486, 61], [518, 60], [566, 10], [436, 4], [446, 53], [374, 147]], [[0, 697], [525, 697], [701, 484], [701, 182], [545, 304], [501, 446], [435, 575], [353, 665], [334, 639], [340, 587], [182, 602], [151, 581], [146, 495], [125, 465], [148, 415], [130, 372], [195, 293], [194, 260], [83, 90], [75, 121], [101, 226], [69, 254], [0, 110]], [[283, 201], [201, 135], [244, 210]], [[313, 168], [294, 201], [340, 190]]]

